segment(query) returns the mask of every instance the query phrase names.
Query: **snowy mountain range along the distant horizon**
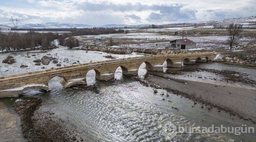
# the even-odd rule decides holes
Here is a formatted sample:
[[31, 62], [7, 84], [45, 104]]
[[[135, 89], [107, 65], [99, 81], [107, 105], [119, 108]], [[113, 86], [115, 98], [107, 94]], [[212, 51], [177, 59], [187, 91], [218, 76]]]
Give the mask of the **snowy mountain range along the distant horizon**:
[[[186, 23], [175, 23], [175, 24], [167, 24], [167, 25], [183, 25], [183, 24], [197, 24], [197, 23], [204, 23], [205, 25], [227, 25], [230, 23], [239, 23], [243, 25], [249, 25], [249, 22], [256, 22], [256, 16], [250, 17], [240, 17], [240, 18], [233, 18], [233, 19], [224, 19], [224, 20], [211, 20], [211, 21], [201, 21], [201, 22], [186, 22]], [[150, 25], [150, 24], [149, 24]], [[21, 29], [38, 29], [38, 28], [89, 28], [89, 27], [144, 27], [148, 25], [116, 25], [116, 24], [108, 24], [102, 26], [92, 26], [86, 24], [77, 24], [77, 23], [57, 23], [57, 22], [48, 22], [48, 23], [29, 23], [19, 25], [18, 28]], [[12, 23], [0, 23], [1, 29], [11, 29], [13, 27]]]

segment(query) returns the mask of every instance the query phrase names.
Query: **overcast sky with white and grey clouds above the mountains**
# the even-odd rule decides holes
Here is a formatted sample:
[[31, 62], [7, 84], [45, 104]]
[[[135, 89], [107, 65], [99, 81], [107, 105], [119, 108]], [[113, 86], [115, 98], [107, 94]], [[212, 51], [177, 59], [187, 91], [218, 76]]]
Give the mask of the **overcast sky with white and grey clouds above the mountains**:
[[256, 0], [0, 0], [0, 23], [167, 24], [256, 16]]

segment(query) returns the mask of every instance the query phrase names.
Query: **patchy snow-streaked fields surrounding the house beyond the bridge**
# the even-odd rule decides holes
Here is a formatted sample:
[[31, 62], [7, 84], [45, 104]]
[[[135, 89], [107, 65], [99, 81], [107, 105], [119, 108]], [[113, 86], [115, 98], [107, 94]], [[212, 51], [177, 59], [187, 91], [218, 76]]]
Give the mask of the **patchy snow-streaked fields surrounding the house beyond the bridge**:
[[[208, 27], [209, 28], [209, 27]], [[170, 47], [170, 41], [180, 39], [182, 36], [173, 36], [172, 33], [177, 30], [195, 29], [193, 27], [186, 28], [166, 28], [166, 29], [142, 29], [130, 31], [130, 33], [119, 34], [104, 34], [104, 35], [82, 35], [75, 36], [82, 45], [94, 45], [94, 46], [110, 46], [110, 39], [112, 39], [112, 47], [131, 47], [131, 48], [145, 48], [145, 49], [165, 49]], [[217, 31], [224, 31], [223, 29], [217, 29]], [[214, 33], [214, 32], [213, 32]], [[168, 35], [167, 35], [168, 34]], [[101, 40], [95, 40], [95, 38], [101, 38]], [[227, 43], [227, 35], [218, 36], [185, 36], [197, 43], [197, 48], [189, 50], [200, 49], [217, 49], [217, 48], [229, 48]], [[255, 41], [255, 38], [245, 37], [239, 39], [238, 47], [247, 45], [248, 43]], [[235, 47], [234, 47], [235, 48]]]

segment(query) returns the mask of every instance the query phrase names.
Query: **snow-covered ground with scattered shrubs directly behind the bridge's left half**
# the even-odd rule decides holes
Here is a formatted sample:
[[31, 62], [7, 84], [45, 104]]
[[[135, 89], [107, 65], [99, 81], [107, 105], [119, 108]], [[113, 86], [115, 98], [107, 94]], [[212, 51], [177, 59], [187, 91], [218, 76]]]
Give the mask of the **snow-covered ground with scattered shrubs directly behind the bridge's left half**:
[[[0, 77], [9, 76], [15, 74], [22, 74], [28, 72], [35, 72], [38, 70], [51, 69], [52, 67], [57, 68], [56, 64], [51, 61], [49, 65], [35, 65], [33, 62], [35, 59], [41, 59], [43, 56], [57, 58], [61, 66], [71, 66], [76, 64], [83, 64], [89, 62], [105, 61], [111, 60], [110, 58], [105, 58], [103, 56], [109, 55], [108, 53], [99, 52], [99, 51], [88, 51], [85, 50], [68, 50], [68, 47], [60, 46], [59, 48], [53, 50], [47, 50], [47, 52], [42, 52], [42, 50], [36, 51], [19, 51], [19, 52], [8, 52], [0, 53]], [[27, 58], [27, 53], [30, 58]], [[35, 54], [35, 56], [32, 56]], [[16, 60], [16, 63], [6, 64], [2, 61], [8, 56], [11, 55]], [[120, 58], [129, 58], [129, 57], [138, 57], [142, 56], [136, 53], [128, 55], [119, 55], [112, 54], [116, 59]], [[79, 62], [78, 62], [79, 61]], [[74, 64], [73, 64], [74, 63]], [[20, 68], [20, 65], [27, 65], [26, 68]], [[42, 68], [45, 67], [45, 68]]]

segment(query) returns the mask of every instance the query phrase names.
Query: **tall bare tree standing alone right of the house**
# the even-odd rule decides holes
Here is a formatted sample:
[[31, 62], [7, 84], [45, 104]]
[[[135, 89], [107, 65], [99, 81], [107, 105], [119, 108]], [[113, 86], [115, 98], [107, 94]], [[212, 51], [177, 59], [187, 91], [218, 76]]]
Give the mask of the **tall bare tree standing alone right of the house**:
[[236, 35], [241, 31], [243, 25], [239, 25], [239, 24], [230, 24], [228, 27], [228, 31], [229, 31], [229, 38], [228, 38], [228, 42], [230, 45], [230, 50], [232, 49], [232, 45], [233, 42], [236, 38]]

